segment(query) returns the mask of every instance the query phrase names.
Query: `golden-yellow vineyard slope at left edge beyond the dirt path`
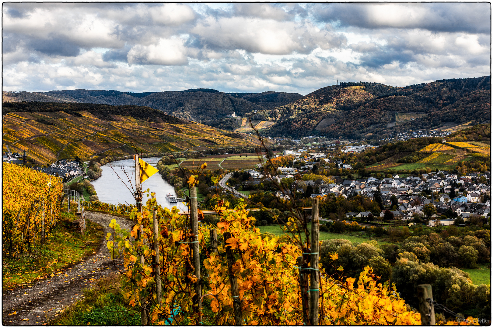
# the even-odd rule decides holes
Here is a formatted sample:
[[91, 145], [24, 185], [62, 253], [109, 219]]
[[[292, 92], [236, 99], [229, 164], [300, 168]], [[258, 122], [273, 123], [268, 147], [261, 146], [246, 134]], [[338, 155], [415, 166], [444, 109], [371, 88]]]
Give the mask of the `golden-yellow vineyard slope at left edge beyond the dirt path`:
[[44, 244], [60, 220], [62, 179], [2, 164], [2, 250], [10, 255]]

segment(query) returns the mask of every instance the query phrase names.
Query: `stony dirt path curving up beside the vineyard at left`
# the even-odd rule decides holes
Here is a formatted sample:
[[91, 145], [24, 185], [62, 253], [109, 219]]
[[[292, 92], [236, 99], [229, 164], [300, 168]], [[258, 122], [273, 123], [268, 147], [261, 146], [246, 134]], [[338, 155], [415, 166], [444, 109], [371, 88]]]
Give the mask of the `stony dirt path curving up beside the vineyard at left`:
[[[99, 223], [104, 228], [104, 238], [96, 253], [84, 258], [70, 268], [52, 277], [33, 283], [32, 287], [2, 292], [2, 324], [6, 326], [33, 326], [42, 325], [51, 320], [58, 310], [70, 306], [82, 297], [82, 289], [89, 288], [100, 278], [110, 272], [117, 272], [114, 268], [106, 247], [106, 234], [112, 232], [108, 227], [111, 219], [121, 228], [131, 229], [133, 222], [130, 219], [110, 214], [86, 211], [86, 218]], [[116, 259], [117, 267], [123, 269], [122, 261]], [[42, 291], [42, 292], [41, 292]], [[17, 312], [15, 315], [9, 313]], [[28, 318], [29, 321], [21, 319]]]

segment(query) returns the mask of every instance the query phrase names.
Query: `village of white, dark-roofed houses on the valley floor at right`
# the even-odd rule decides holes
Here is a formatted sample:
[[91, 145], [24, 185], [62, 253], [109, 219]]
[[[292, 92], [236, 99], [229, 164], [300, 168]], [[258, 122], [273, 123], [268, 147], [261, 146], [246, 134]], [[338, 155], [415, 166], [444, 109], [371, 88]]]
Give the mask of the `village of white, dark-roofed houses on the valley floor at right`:
[[[285, 151], [286, 152], [286, 151]], [[287, 153], [299, 156], [297, 152], [287, 151]], [[377, 177], [362, 177], [360, 179], [344, 179], [340, 176], [334, 176], [332, 183], [326, 183], [323, 179], [305, 180], [303, 175], [311, 174], [314, 166], [319, 166], [319, 160], [325, 158], [325, 154], [313, 154], [310, 158], [304, 158], [305, 164], [293, 165], [294, 167], [280, 167], [277, 175], [272, 178], [264, 177], [264, 174], [255, 170], [246, 170], [249, 179], [241, 184], [231, 184], [223, 192], [230, 193], [236, 190], [256, 189], [260, 186], [268, 185], [272, 180], [278, 183], [291, 178], [292, 183], [289, 190], [274, 191], [279, 197], [288, 199], [290, 195], [296, 195], [297, 198], [316, 198], [321, 199], [328, 196], [342, 196], [350, 199], [356, 195], [361, 195], [375, 200], [377, 193], [380, 193], [382, 205], [391, 212], [393, 220], [412, 221], [416, 217], [427, 218], [424, 209], [425, 205], [433, 204], [436, 213], [429, 216], [428, 226], [452, 225], [458, 222], [467, 222], [470, 216], [487, 217], [490, 213], [490, 195], [491, 195], [491, 172], [468, 173], [465, 176], [448, 171], [437, 171], [433, 174], [422, 174], [418, 176], [399, 176], [398, 174], [385, 175]], [[302, 159], [303, 160], [303, 159]], [[318, 162], [316, 162], [318, 160]], [[296, 160], [293, 161], [296, 163]], [[330, 163], [332, 160], [325, 159], [324, 162]], [[349, 164], [334, 160], [336, 168], [352, 169]], [[322, 168], [322, 167], [320, 167]], [[231, 180], [230, 180], [231, 181]], [[231, 181], [233, 182], [233, 181]], [[385, 210], [379, 213], [369, 211], [347, 212], [346, 219], [356, 220], [383, 220]], [[456, 222], [457, 223], [457, 222]], [[463, 223], [462, 223], [463, 224]]]

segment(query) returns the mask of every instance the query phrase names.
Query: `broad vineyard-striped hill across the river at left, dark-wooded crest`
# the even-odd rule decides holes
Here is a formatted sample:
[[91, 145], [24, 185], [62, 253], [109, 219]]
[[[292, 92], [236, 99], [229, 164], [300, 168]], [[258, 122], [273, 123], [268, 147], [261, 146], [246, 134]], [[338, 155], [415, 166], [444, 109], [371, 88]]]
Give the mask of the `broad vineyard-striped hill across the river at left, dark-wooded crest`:
[[4, 102], [2, 151], [22, 152], [36, 163], [179, 150], [252, 147], [252, 136], [176, 118], [142, 106]]

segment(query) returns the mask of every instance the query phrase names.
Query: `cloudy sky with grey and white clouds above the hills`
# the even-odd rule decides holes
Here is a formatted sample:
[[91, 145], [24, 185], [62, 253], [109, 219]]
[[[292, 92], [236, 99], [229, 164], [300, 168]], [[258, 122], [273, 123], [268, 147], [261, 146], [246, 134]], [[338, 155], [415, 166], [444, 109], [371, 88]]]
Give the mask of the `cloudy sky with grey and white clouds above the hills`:
[[490, 3], [3, 3], [4, 91], [298, 92], [490, 75]]

